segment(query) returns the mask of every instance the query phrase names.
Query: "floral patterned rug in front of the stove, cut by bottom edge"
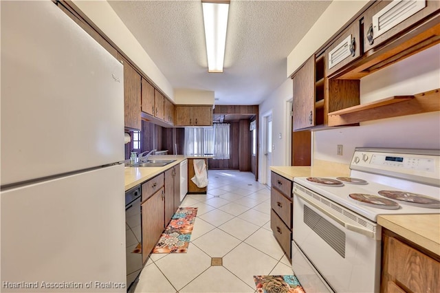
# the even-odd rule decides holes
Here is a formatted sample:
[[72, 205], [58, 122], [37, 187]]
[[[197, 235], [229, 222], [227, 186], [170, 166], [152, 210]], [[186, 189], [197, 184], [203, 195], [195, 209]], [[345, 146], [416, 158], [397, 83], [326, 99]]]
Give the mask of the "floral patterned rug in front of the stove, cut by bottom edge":
[[305, 293], [294, 275], [254, 276], [258, 293]]

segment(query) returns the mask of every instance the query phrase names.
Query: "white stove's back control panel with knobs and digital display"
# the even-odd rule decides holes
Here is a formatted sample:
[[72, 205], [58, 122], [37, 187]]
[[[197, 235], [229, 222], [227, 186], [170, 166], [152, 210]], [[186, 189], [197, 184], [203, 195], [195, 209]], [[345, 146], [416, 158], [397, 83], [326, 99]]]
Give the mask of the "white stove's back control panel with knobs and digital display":
[[375, 151], [358, 148], [353, 154], [350, 169], [439, 184], [440, 153], [432, 150], [408, 150], [408, 153], [399, 153], [391, 152], [391, 149]]

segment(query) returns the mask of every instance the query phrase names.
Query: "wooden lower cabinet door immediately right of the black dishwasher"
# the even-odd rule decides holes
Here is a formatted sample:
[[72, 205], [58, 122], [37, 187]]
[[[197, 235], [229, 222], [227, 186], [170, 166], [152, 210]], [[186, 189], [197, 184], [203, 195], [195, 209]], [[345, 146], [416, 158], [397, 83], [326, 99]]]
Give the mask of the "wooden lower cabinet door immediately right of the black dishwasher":
[[142, 262], [145, 263], [164, 231], [164, 188], [141, 204]]

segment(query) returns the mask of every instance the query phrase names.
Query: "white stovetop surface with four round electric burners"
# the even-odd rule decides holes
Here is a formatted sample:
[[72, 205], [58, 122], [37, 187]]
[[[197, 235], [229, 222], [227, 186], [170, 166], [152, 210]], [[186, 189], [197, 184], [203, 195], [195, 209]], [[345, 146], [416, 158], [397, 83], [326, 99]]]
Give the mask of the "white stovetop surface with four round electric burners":
[[[429, 197], [430, 199], [434, 199], [431, 202], [436, 202], [435, 199], [440, 201], [440, 189], [435, 186], [426, 186], [422, 184], [410, 184], [411, 188], [408, 186], [404, 186], [405, 189], [401, 189], [395, 186], [401, 186], [403, 184], [396, 184], [395, 186], [390, 186], [386, 184], [380, 184], [377, 182], [373, 182], [371, 180], [366, 180], [367, 184], [362, 182], [365, 179], [353, 177], [355, 178], [355, 182], [357, 184], [343, 182], [338, 180], [337, 177], [320, 177], [321, 180], [307, 180], [308, 177], [295, 177], [294, 182], [300, 184], [306, 188], [309, 188], [311, 191], [330, 199], [349, 210], [352, 210], [371, 221], [377, 222], [378, 215], [401, 215], [401, 214], [434, 214], [440, 213], [440, 208], [425, 208], [420, 206], [415, 206], [412, 203], [401, 202], [396, 199], [391, 199], [380, 195], [380, 191], [398, 191], [397, 195], [401, 195], [401, 192], [404, 193], [417, 193], [417, 195], [423, 195]], [[326, 180], [327, 179], [327, 180]], [[358, 180], [359, 179], [359, 180]], [[318, 181], [318, 182], [317, 182]], [[359, 182], [358, 182], [359, 181]], [[329, 182], [329, 185], [325, 185], [322, 182]], [[342, 182], [338, 184], [338, 182]], [[362, 182], [362, 184], [360, 183]], [[408, 190], [408, 188], [410, 190]], [[390, 194], [384, 193], [382, 194]], [[391, 193], [391, 196], [396, 193]], [[350, 195], [354, 195], [352, 197], [358, 198], [362, 200], [359, 202], [350, 197]], [[370, 196], [373, 198], [370, 198]], [[411, 195], [411, 194], [410, 194]], [[409, 195], [409, 196], [410, 196]], [[377, 197], [379, 200], [375, 200]], [[388, 206], [385, 205], [388, 203]], [[397, 203], [397, 206], [395, 205]], [[378, 204], [380, 208], [375, 207], [374, 204]], [[431, 204], [431, 206], [435, 206], [436, 203]]]

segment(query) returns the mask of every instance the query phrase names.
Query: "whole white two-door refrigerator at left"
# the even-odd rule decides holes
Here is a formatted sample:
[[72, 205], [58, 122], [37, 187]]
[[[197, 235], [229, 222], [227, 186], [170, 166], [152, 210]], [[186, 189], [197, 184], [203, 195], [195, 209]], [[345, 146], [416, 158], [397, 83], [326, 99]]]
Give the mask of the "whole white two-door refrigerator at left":
[[0, 292], [126, 292], [122, 64], [52, 1], [0, 11]]

